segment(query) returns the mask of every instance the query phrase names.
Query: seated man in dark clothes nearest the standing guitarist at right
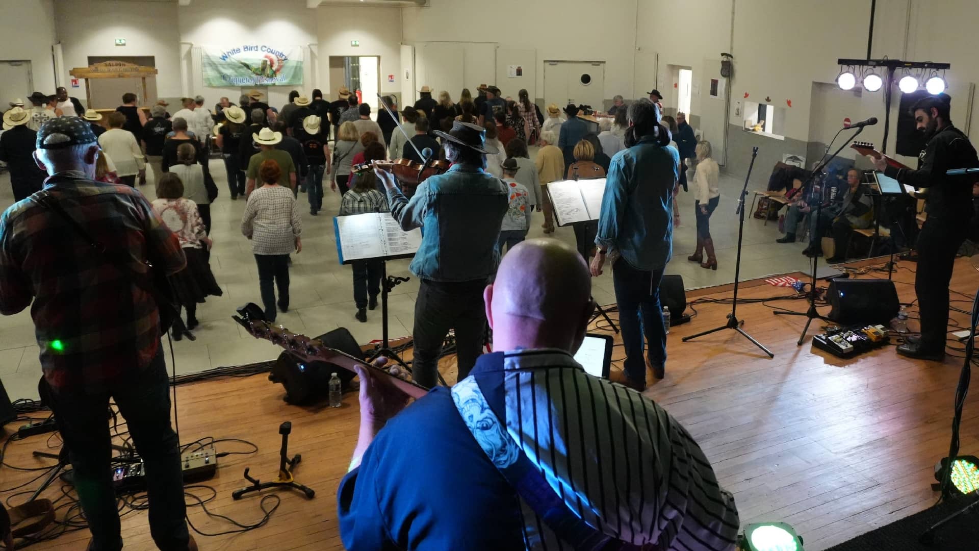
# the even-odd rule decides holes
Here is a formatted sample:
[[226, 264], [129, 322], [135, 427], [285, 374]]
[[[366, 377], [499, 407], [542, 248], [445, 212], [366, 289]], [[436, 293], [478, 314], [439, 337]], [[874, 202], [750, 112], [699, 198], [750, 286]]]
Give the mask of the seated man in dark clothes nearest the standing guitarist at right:
[[[835, 253], [827, 258], [828, 263], [839, 263], [846, 260], [846, 248], [850, 242], [850, 234], [854, 229], [865, 229], [873, 225], [873, 201], [863, 194], [860, 186], [861, 173], [857, 169], [847, 172], [847, 190], [843, 200], [823, 207], [819, 218], [810, 217], [809, 247], [803, 251], [806, 256], [822, 254], [822, 234], [828, 229], [833, 235]], [[787, 221], [786, 221], [787, 222]]]

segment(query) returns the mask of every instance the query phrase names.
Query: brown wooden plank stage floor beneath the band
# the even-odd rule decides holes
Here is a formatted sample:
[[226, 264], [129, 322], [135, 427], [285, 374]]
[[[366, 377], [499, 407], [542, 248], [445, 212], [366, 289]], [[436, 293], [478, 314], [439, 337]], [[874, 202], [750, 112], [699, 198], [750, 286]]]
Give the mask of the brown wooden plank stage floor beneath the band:
[[[902, 262], [895, 273], [903, 302], [914, 300], [910, 283], [915, 268]], [[958, 259], [952, 289], [964, 294], [953, 294], [958, 301], [953, 306], [969, 310], [977, 286], [979, 273], [969, 259]], [[740, 297], [793, 292], [751, 281], [742, 287]], [[730, 292], [726, 287], [701, 289], [689, 292], [688, 300], [697, 296], [723, 298]], [[801, 300], [768, 304], [797, 311], [806, 308]], [[938, 497], [930, 488], [933, 466], [948, 452], [961, 360], [950, 355], [944, 364], [912, 361], [899, 357], [893, 346], [839, 360], [811, 350], [809, 340], [796, 346], [805, 318], [776, 317], [769, 306], [739, 304], [738, 317], [745, 320], [745, 330], [775, 353], [774, 359], [730, 330], [680, 342], [684, 335], [723, 325], [730, 311], [728, 305], [700, 304], [692, 323], [676, 326], [670, 334], [667, 377], [646, 391], [704, 448], [723, 486], [734, 493], [742, 523], [790, 523], [805, 537], [807, 550], [817, 551], [933, 504]], [[910, 312], [916, 329], [916, 308]], [[959, 326], [968, 325], [964, 314], [953, 313], [952, 319]], [[810, 335], [820, 330], [814, 323]], [[616, 348], [615, 357], [622, 356], [622, 348]], [[446, 375], [454, 380], [454, 374]], [[243, 534], [198, 536], [202, 549], [343, 548], [335, 494], [356, 439], [355, 394], [347, 394], [338, 409], [289, 406], [281, 400], [281, 386], [261, 375], [184, 384], [177, 394], [182, 441], [209, 435], [244, 438], [259, 448], [255, 455], [219, 460], [217, 476], [204, 482], [217, 490], [217, 498], [209, 504], [211, 511], [241, 523], [261, 518], [258, 496], [233, 501], [231, 491], [244, 485], [245, 467], [262, 479], [276, 475], [277, 428], [283, 421], [293, 424], [290, 452], [303, 454], [297, 479], [316, 490], [313, 500], [280, 491], [281, 507], [266, 526]], [[961, 450], [966, 454], [979, 452], [976, 404], [972, 396], [965, 406]], [[46, 439], [33, 436], [12, 442], [5, 461], [21, 467], [50, 465], [49, 460], [30, 456], [31, 450], [45, 447]], [[218, 451], [242, 449], [245, 446], [234, 444], [218, 447]], [[31, 477], [0, 469], [0, 488]], [[51, 489], [45, 495], [59, 493]], [[188, 512], [192, 523], [204, 531], [233, 527], [208, 518], [199, 507]], [[145, 512], [126, 515], [122, 526], [126, 548], [154, 548]], [[83, 549], [87, 539], [87, 530], [75, 531], [31, 548]]]

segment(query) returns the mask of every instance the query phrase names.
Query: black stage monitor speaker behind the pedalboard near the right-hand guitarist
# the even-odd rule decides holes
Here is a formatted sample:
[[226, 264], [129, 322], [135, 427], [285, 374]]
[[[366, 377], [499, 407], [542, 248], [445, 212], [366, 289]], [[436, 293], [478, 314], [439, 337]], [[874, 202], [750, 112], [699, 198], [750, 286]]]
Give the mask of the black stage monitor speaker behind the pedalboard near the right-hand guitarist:
[[843, 326], [887, 326], [901, 308], [894, 281], [889, 279], [830, 279], [826, 295], [832, 306], [828, 318]]

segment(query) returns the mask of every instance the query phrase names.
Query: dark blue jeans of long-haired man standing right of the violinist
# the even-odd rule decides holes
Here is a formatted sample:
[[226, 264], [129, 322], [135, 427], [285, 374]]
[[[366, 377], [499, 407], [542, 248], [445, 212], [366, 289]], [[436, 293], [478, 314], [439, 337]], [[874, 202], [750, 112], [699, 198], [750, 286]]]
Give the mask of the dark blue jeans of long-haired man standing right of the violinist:
[[649, 345], [649, 363], [653, 369], [666, 366], [667, 330], [663, 326], [660, 306], [660, 282], [663, 269], [636, 270], [620, 258], [612, 267], [615, 299], [619, 305], [619, 326], [626, 347], [626, 376], [636, 382], [646, 381], [642, 359], [643, 336]]

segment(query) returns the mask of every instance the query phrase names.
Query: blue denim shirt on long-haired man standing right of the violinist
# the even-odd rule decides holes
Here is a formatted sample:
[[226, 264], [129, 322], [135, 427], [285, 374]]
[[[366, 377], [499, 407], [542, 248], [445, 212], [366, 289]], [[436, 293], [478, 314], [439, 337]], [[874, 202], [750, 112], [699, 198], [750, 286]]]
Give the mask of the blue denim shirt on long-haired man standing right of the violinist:
[[673, 190], [679, 153], [645, 136], [616, 153], [605, 180], [595, 244], [637, 270], [656, 270], [673, 254]]

